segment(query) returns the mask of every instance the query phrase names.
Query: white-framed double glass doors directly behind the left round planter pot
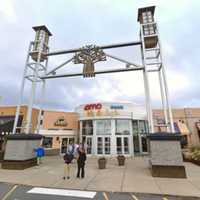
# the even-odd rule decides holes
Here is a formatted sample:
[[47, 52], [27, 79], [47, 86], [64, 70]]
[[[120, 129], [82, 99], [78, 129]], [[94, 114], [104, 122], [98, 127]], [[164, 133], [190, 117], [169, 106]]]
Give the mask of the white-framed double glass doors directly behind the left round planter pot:
[[110, 137], [106, 136], [97, 137], [97, 154], [98, 155], [110, 154]]

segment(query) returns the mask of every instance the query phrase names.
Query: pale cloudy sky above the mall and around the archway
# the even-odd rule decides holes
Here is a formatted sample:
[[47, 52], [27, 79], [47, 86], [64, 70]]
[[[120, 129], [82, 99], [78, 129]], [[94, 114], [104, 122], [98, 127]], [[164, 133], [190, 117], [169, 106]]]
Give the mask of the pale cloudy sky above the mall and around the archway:
[[[34, 40], [33, 26], [45, 24], [52, 32], [50, 51], [139, 40], [137, 11], [156, 6], [163, 62], [172, 107], [200, 107], [200, 1], [199, 0], [1, 0], [0, 6], [0, 105], [16, 105], [27, 56]], [[134, 63], [141, 63], [138, 47], [106, 50]], [[73, 54], [50, 57], [53, 69]], [[122, 68], [107, 59], [95, 69]], [[82, 72], [70, 63], [59, 73]], [[149, 75], [154, 108], [161, 107], [158, 76]], [[40, 106], [39, 86], [34, 105]], [[30, 82], [26, 82], [23, 104], [28, 104]], [[97, 75], [95, 78], [61, 78], [46, 82], [46, 109], [74, 110], [80, 104], [101, 101], [145, 103], [142, 72]]]

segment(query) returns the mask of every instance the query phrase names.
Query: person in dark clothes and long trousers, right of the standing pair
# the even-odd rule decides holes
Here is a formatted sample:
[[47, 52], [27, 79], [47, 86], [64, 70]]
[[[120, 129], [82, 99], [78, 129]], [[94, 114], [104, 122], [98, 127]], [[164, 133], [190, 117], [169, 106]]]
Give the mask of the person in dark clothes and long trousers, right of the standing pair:
[[77, 158], [77, 165], [78, 165], [78, 172], [77, 172], [77, 178], [80, 178], [80, 172], [81, 172], [81, 178], [84, 178], [85, 176], [85, 161], [86, 161], [86, 153], [84, 148], [79, 148], [78, 150], [78, 158]]

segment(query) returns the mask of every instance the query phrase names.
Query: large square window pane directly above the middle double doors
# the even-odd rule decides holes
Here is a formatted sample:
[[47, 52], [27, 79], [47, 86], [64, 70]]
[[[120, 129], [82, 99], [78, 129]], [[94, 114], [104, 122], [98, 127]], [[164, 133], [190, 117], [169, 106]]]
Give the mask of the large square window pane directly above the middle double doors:
[[96, 120], [96, 134], [110, 135], [111, 134], [111, 120]]

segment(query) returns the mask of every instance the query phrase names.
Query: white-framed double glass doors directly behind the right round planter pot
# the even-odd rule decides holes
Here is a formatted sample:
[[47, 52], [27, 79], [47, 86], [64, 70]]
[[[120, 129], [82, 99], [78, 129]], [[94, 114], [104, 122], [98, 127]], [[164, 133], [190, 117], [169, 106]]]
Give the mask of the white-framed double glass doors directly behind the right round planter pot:
[[117, 154], [130, 154], [129, 137], [116, 137]]

